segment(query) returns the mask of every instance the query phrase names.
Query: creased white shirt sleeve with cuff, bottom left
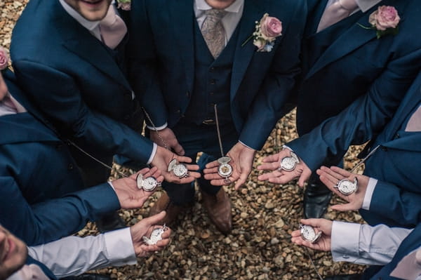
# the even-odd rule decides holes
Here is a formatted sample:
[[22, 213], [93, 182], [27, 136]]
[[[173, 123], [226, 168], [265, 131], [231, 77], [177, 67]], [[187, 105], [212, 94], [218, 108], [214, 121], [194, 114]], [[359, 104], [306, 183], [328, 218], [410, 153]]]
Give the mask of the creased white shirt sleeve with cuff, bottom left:
[[130, 227], [98, 236], [69, 236], [29, 247], [29, 255], [42, 262], [57, 278], [92, 269], [137, 263]]

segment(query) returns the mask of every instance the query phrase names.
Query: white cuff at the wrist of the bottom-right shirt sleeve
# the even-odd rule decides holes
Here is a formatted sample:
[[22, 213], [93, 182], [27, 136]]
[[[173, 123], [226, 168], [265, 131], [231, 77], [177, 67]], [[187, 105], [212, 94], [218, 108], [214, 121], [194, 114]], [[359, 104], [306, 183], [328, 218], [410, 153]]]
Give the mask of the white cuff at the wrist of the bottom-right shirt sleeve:
[[333, 221], [331, 248], [335, 262], [354, 262], [359, 258], [360, 224]]

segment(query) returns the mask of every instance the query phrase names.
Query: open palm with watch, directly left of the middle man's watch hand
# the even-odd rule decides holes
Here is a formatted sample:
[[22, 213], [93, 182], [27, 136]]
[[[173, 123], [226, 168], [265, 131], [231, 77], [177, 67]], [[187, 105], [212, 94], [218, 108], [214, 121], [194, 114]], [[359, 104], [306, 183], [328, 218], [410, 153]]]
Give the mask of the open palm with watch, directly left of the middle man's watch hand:
[[199, 170], [199, 166], [197, 164], [186, 164], [187, 169], [190, 171], [189, 177], [186, 178], [180, 179], [177, 176], [175, 176], [173, 172], [168, 172], [168, 164], [172, 159], [177, 159], [177, 161], [180, 163], [192, 162], [192, 159], [190, 159], [187, 156], [178, 156], [177, 154], [174, 154], [168, 149], [158, 146], [156, 149], [156, 154], [154, 156], [154, 159], [152, 159], [151, 164], [152, 166], [156, 166], [161, 171], [163, 178], [165, 178], [165, 180], [168, 182], [185, 184], [188, 182], [193, 182], [196, 178], [200, 178], [199, 172], [192, 172]]

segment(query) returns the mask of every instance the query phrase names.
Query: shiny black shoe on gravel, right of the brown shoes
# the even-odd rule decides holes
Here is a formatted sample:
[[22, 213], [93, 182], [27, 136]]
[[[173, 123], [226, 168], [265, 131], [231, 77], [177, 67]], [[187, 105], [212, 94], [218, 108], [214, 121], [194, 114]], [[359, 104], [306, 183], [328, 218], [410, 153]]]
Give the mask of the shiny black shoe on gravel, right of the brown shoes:
[[332, 192], [322, 182], [308, 184], [304, 192], [304, 217], [321, 218], [331, 198]]

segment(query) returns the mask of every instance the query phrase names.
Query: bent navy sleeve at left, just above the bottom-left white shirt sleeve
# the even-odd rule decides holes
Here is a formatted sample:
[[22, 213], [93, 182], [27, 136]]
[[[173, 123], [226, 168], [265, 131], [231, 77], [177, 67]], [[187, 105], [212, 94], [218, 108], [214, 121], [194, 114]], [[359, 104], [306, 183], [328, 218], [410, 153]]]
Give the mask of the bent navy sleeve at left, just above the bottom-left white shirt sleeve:
[[108, 183], [29, 205], [13, 176], [0, 176], [0, 223], [28, 246], [44, 244], [74, 234], [86, 222], [120, 208]]

